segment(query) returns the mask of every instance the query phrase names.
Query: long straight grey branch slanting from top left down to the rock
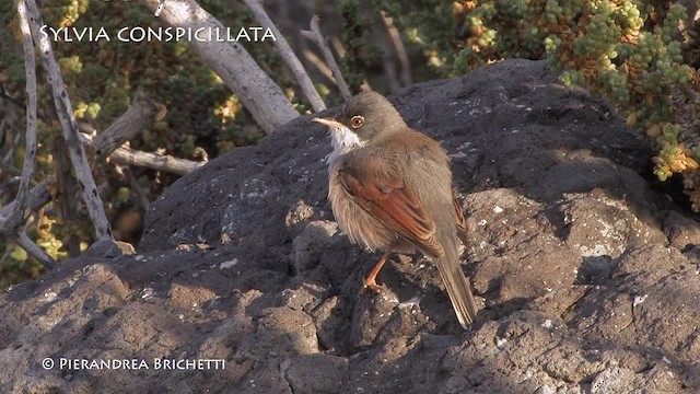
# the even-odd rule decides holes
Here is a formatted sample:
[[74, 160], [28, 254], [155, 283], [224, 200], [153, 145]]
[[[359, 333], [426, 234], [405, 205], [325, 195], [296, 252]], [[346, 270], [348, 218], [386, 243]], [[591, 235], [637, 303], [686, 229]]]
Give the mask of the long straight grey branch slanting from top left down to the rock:
[[39, 32], [40, 26], [44, 24], [39, 10], [36, 7], [35, 0], [24, 0], [28, 11], [31, 21], [32, 35], [34, 40], [39, 47], [39, 54], [42, 57], [42, 65], [46, 71], [46, 79], [51, 86], [54, 94], [54, 104], [56, 105], [56, 113], [61, 123], [63, 129], [63, 139], [68, 146], [71, 163], [75, 171], [75, 177], [80, 184], [88, 212], [95, 227], [97, 239], [112, 240], [112, 229], [105, 215], [104, 206], [97, 194], [97, 186], [95, 179], [92, 177], [92, 172], [85, 157], [85, 150], [80, 142], [78, 136], [78, 125], [75, 124], [75, 117], [73, 116], [73, 107], [68, 97], [66, 90], [66, 83], [60, 73], [60, 68], [54, 56], [54, 49], [49, 42], [48, 36], [43, 36]]

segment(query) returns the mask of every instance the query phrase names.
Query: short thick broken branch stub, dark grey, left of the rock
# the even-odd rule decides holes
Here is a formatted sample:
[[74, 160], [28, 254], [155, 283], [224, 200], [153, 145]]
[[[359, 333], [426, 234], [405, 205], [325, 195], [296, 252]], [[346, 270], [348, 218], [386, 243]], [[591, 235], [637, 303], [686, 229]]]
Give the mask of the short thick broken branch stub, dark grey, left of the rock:
[[97, 155], [96, 160], [104, 160], [163, 116], [165, 116], [163, 104], [155, 102], [142, 91], [137, 92], [129, 108], [92, 141], [91, 146]]

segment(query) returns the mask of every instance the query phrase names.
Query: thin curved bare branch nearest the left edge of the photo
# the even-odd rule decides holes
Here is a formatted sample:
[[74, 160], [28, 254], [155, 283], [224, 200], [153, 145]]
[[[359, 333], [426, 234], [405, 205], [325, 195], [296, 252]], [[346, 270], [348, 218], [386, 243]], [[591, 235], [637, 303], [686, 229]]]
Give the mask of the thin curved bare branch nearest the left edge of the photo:
[[26, 78], [26, 135], [24, 137], [25, 152], [20, 192], [18, 193], [12, 213], [10, 213], [10, 217], [2, 223], [3, 225], [0, 229], [4, 232], [15, 232], [24, 219], [24, 211], [26, 210], [30, 195], [30, 184], [34, 175], [34, 159], [36, 157], [36, 60], [34, 58], [34, 42], [32, 42], [32, 31], [30, 30], [30, 22], [26, 16], [24, 0], [18, 1], [18, 13], [20, 15], [20, 28], [23, 38], [24, 74]]

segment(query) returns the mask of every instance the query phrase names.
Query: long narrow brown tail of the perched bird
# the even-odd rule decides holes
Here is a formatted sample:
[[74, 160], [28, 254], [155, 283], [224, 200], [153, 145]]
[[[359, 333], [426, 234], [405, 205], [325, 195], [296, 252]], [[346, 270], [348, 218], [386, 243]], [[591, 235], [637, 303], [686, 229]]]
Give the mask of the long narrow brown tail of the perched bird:
[[435, 264], [440, 270], [450, 301], [457, 314], [457, 320], [464, 329], [468, 329], [477, 315], [477, 304], [474, 301], [469, 279], [465, 277], [459, 265], [459, 255], [457, 252], [456, 240], [447, 236], [442, 245], [445, 253], [441, 257], [435, 257]]

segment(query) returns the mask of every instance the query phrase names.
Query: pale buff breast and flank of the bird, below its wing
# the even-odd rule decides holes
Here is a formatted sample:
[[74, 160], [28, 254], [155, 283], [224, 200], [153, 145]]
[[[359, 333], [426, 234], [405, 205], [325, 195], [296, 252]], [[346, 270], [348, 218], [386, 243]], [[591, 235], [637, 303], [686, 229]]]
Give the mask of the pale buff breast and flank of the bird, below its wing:
[[328, 199], [332, 215], [352, 243], [371, 251], [385, 250], [388, 245], [396, 243], [396, 232], [387, 229], [358, 206], [352, 196], [346, 192], [338, 179], [337, 161], [330, 164], [328, 177]]

